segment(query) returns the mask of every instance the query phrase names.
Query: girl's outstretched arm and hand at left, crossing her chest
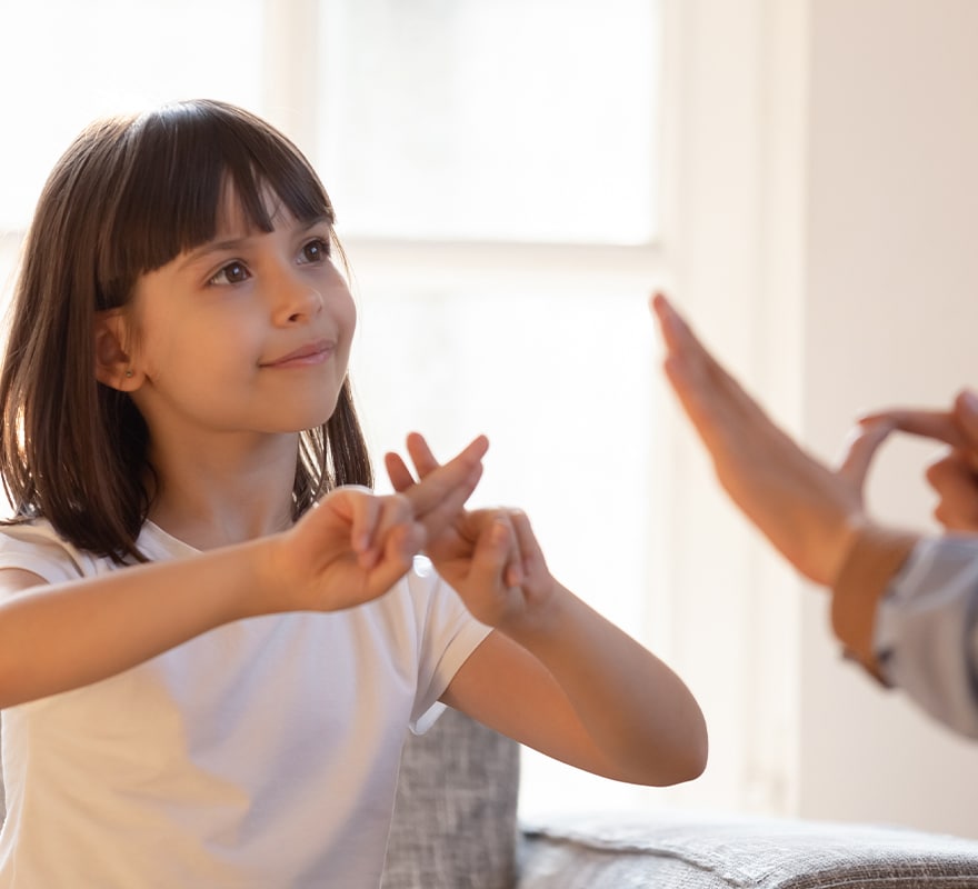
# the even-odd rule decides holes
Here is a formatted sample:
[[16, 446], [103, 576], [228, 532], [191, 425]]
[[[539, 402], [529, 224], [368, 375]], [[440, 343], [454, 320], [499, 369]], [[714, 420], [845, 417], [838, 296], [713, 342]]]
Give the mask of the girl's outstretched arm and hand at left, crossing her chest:
[[233, 620], [381, 596], [461, 509], [487, 446], [477, 439], [406, 495], [340, 488], [286, 532], [188, 559], [53, 586], [0, 570], [0, 708], [114, 676]]

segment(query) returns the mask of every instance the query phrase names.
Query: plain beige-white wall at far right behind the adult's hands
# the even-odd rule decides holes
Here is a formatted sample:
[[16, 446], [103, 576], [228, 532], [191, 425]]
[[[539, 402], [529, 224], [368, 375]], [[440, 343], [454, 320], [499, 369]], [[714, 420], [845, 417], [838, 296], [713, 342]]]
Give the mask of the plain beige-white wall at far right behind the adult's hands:
[[[802, 434], [836, 453], [851, 418], [942, 406], [978, 383], [978, 3], [812, 0]], [[880, 517], [926, 528], [936, 446], [872, 480]], [[978, 745], [839, 662], [804, 598], [798, 811], [978, 837]]]

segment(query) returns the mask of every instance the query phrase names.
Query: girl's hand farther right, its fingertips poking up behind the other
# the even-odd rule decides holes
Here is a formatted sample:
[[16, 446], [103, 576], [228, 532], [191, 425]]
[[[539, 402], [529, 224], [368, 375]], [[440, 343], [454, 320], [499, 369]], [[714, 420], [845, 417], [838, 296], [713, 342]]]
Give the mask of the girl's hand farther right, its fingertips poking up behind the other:
[[[407, 443], [419, 479], [439, 468], [422, 436], [412, 432]], [[386, 455], [385, 465], [399, 493], [417, 485], [399, 455]], [[460, 510], [453, 522], [428, 540], [425, 552], [472, 616], [490, 627], [515, 628], [538, 620], [553, 596], [556, 581], [521, 510]]]

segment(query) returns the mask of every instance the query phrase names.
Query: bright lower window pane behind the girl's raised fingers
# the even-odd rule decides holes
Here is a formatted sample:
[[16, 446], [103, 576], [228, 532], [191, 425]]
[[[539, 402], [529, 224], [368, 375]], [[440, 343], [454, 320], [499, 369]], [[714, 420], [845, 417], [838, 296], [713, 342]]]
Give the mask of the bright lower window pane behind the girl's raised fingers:
[[526, 509], [553, 572], [640, 633], [655, 379], [645, 291], [371, 286], [358, 301], [351, 379], [375, 458], [403, 452], [411, 430], [442, 457], [485, 432], [473, 502]]

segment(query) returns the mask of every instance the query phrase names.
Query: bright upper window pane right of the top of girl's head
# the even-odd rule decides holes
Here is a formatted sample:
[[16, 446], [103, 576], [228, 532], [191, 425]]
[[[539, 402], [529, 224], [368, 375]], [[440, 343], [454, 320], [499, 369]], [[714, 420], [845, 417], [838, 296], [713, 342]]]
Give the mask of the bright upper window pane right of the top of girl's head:
[[331, 0], [320, 168], [342, 231], [645, 243], [658, 0]]

